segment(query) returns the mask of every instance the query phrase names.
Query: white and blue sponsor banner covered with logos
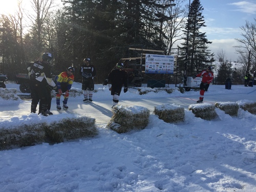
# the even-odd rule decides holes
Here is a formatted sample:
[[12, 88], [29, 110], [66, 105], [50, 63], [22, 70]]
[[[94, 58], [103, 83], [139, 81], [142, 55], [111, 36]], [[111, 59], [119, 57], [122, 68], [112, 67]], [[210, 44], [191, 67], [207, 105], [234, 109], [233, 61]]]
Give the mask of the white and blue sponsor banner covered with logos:
[[174, 56], [146, 54], [145, 73], [173, 74]]

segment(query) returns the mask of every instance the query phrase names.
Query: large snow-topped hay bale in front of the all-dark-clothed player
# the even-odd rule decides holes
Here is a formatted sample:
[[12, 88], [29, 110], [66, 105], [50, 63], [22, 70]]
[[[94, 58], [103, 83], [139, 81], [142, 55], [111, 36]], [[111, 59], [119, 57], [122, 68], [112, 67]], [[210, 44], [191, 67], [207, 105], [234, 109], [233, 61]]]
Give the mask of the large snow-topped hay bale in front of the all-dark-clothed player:
[[117, 133], [145, 129], [150, 117], [150, 111], [142, 106], [124, 108], [122, 105], [116, 105], [112, 112], [113, 116], [106, 126]]

